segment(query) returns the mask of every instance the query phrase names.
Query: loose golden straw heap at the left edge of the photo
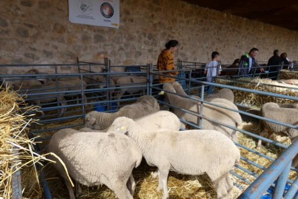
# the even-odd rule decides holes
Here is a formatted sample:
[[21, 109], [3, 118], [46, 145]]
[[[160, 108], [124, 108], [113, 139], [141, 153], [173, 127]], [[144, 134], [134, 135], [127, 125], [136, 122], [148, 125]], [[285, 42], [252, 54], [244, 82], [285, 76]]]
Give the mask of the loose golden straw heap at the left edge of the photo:
[[[0, 86], [0, 195], [12, 198], [12, 175], [15, 171], [30, 170], [34, 183], [22, 183], [23, 197], [33, 198], [40, 196], [42, 189], [39, 186], [38, 172], [35, 163], [44, 157], [34, 154], [35, 142], [28, 138], [28, 125], [35, 122], [31, 120], [31, 111], [36, 107], [26, 107], [23, 98], [10, 87]], [[12, 150], [12, 148], [14, 150]], [[22, 172], [22, 174], [27, 173]], [[21, 175], [22, 182], [26, 179]]]

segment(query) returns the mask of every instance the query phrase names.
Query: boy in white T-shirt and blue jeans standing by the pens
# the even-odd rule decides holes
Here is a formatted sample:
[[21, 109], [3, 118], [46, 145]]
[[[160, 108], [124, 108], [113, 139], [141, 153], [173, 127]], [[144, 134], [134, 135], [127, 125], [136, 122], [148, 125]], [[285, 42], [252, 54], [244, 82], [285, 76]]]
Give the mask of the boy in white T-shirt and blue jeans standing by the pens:
[[212, 61], [208, 62], [206, 64], [206, 68], [204, 70], [204, 74], [207, 74], [206, 81], [208, 81], [208, 82], [212, 82], [213, 81], [212, 77], [216, 77], [217, 74], [220, 75], [220, 73], [222, 71], [221, 70], [221, 65], [219, 65], [219, 68], [218, 68], [218, 71], [217, 71], [219, 53], [215, 51], [211, 54], [211, 57], [212, 57]]

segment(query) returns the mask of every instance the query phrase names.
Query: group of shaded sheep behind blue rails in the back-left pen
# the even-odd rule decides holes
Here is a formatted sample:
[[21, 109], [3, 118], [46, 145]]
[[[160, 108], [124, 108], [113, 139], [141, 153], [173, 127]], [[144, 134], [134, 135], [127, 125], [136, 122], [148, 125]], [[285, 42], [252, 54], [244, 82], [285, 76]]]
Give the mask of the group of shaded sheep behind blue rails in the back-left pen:
[[[85, 92], [89, 88], [107, 87], [107, 78], [104, 75], [83, 74], [82, 78], [78, 76], [65, 77], [55, 76], [46, 73], [40, 73], [37, 69], [31, 69], [25, 72], [26, 76], [19, 78], [2, 79], [5, 86], [10, 85], [12, 89], [18, 90], [20, 94], [26, 96], [26, 102], [29, 105], [46, 106], [54, 104], [57, 101], [58, 115], [61, 117], [66, 112], [66, 97], [76, 97], [77, 104], [81, 100], [82, 104], [87, 103]], [[30, 76], [34, 75], [34, 76]], [[119, 106], [120, 99], [125, 92], [129, 94], [145, 93], [147, 79], [144, 76], [121, 76], [110, 79], [110, 92], [113, 93], [113, 100], [117, 101]], [[136, 86], [136, 87], [131, 87]], [[93, 93], [92, 93], [93, 94]], [[106, 95], [105, 95], [106, 96]], [[41, 109], [42, 110], [42, 109]], [[41, 111], [42, 116], [44, 112]]]

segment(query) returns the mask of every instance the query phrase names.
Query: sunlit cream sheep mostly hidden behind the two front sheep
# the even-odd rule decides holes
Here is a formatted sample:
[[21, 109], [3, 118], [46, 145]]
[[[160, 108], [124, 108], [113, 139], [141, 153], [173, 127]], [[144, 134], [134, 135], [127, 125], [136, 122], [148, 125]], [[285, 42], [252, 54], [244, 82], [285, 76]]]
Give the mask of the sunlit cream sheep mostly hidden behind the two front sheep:
[[[157, 111], [155, 113], [145, 115], [136, 119], [133, 119], [138, 125], [146, 130], [158, 130], [158, 129], [170, 129], [179, 130], [181, 122], [179, 118], [170, 111]], [[81, 132], [106, 132], [105, 130], [94, 130], [91, 128], [81, 128]]]

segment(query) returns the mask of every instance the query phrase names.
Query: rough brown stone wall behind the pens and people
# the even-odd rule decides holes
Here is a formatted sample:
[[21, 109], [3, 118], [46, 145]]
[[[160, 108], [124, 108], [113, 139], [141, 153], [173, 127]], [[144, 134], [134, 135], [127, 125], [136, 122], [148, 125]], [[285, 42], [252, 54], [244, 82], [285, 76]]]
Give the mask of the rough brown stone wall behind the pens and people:
[[[120, 28], [69, 23], [67, 0], [0, 1], [0, 64], [156, 63], [169, 39], [177, 59], [206, 63], [218, 51], [223, 64], [259, 48], [258, 61], [274, 49], [298, 60], [298, 32], [224, 14], [178, 0], [120, 0]], [[3, 71], [2, 71], [3, 72]]]

